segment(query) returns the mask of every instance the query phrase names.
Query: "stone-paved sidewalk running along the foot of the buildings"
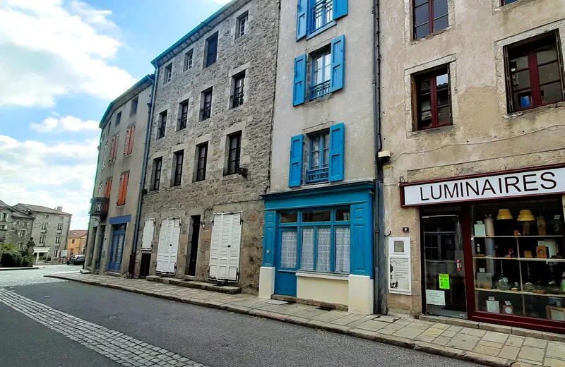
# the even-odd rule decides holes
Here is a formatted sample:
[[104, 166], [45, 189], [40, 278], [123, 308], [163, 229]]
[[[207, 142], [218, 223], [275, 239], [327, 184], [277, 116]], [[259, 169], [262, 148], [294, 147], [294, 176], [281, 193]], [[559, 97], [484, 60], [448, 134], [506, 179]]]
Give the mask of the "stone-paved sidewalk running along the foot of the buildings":
[[416, 320], [326, 311], [316, 306], [259, 299], [251, 294], [222, 294], [143, 279], [80, 273], [55, 273], [45, 277], [280, 320], [487, 366], [565, 367], [565, 335], [548, 332], [458, 319]]

